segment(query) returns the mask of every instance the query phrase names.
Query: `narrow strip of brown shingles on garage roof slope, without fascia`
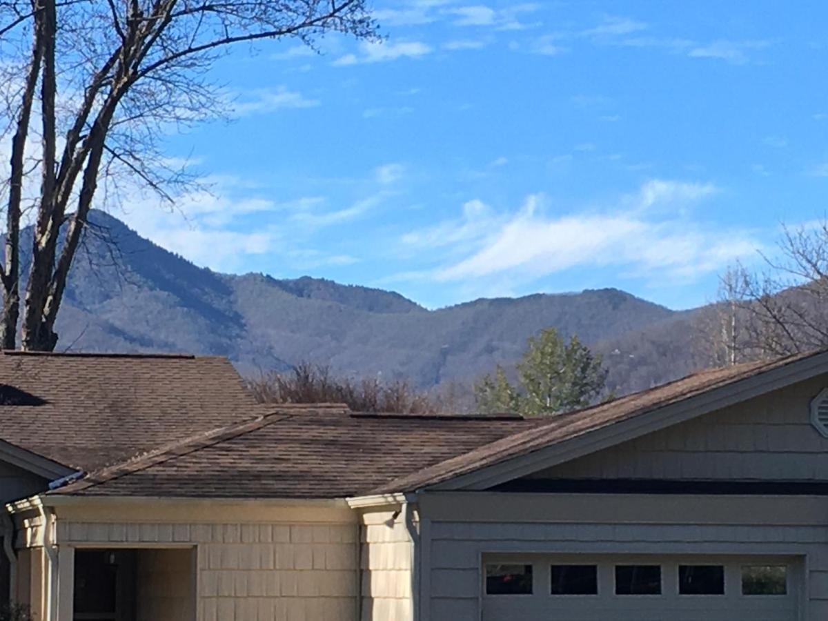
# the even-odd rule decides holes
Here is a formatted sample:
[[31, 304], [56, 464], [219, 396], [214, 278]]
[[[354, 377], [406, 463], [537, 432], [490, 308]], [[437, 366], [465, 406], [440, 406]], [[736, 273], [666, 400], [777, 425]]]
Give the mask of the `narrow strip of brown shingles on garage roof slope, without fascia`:
[[547, 446], [583, 436], [606, 426], [641, 416], [659, 408], [697, 397], [715, 388], [728, 386], [752, 378], [775, 368], [784, 367], [811, 358], [825, 351], [789, 356], [772, 362], [744, 363], [734, 367], [717, 368], [694, 373], [675, 382], [663, 384], [643, 392], [636, 392], [615, 401], [589, 407], [577, 412], [555, 416], [542, 426], [496, 440], [464, 455], [457, 455], [418, 472], [407, 474], [380, 485], [371, 493], [412, 491], [469, 474], [521, 455], [530, 454]]

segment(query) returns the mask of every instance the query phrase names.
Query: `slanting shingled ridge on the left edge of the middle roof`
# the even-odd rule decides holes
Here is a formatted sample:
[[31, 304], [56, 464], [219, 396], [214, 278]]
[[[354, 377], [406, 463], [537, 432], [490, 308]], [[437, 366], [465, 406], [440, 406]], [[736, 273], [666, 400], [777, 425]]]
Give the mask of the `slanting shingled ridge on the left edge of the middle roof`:
[[78, 492], [83, 489], [89, 489], [95, 485], [107, 483], [113, 479], [119, 479], [127, 474], [140, 472], [153, 465], [162, 464], [165, 461], [189, 455], [197, 450], [202, 450], [227, 440], [233, 440], [233, 438], [244, 436], [251, 431], [256, 431], [262, 427], [288, 418], [291, 418], [291, 416], [282, 414], [281, 412], [271, 412], [269, 414], [256, 416], [248, 421], [231, 423], [230, 425], [216, 427], [210, 431], [202, 431], [193, 436], [170, 442], [169, 444], [162, 445], [145, 453], [132, 455], [128, 460], [118, 462], [118, 464], [94, 470], [86, 474], [83, 479], [78, 479], [65, 486], [55, 488], [50, 493]]

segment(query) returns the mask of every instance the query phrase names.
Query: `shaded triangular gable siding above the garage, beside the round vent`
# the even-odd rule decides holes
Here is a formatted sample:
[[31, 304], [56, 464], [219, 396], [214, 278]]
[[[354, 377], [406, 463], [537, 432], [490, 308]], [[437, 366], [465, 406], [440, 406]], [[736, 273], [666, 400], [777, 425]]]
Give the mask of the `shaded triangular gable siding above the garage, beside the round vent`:
[[532, 478], [825, 480], [828, 438], [810, 403], [828, 376], [643, 436]]

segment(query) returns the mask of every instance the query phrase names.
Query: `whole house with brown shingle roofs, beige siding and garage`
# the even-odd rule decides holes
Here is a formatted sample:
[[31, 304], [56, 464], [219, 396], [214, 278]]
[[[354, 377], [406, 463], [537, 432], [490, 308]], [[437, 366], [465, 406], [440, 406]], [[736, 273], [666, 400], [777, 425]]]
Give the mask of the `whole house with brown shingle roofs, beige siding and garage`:
[[[58, 358], [18, 357], [31, 368]], [[116, 359], [103, 360], [85, 363]], [[132, 363], [163, 360], [159, 379], [178, 364], [117, 360], [123, 392], [140, 375]], [[64, 415], [31, 384], [7, 383], [18, 401], [0, 408], [52, 407], [51, 425], [77, 425], [44, 440], [12, 426], [7, 437], [3, 416], [0, 459], [22, 481], [7, 503], [12, 595], [35, 619], [828, 614], [828, 352], [696, 373], [532, 421], [225, 395], [181, 410], [195, 420], [204, 408], [214, 422], [226, 408], [219, 425], [195, 428], [173, 420], [183, 406], [162, 384], [165, 416], [130, 426], [141, 444], [132, 451], [117, 428], [130, 424], [118, 415], [128, 400], [90, 402], [90, 431], [81, 395]], [[166, 437], [150, 446], [145, 425]], [[84, 442], [105, 456], [85, 455]], [[55, 479], [31, 491], [23, 471]]]

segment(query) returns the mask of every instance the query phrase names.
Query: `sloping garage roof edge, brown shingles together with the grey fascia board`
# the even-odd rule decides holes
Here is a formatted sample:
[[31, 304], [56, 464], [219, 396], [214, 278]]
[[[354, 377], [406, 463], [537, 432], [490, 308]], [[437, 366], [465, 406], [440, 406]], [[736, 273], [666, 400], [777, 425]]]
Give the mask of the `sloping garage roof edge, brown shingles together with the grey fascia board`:
[[489, 489], [828, 372], [828, 352], [714, 369], [556, 416], [542, 426], [409, 474], [372, 493]]

